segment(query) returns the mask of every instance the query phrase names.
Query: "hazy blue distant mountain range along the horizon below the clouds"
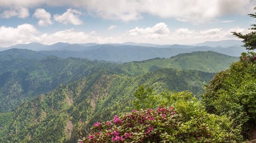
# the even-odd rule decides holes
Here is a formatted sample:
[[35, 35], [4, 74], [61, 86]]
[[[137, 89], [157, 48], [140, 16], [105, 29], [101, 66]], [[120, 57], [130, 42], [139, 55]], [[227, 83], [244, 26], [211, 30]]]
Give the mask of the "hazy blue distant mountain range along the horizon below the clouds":
[[[219, 44], [218, 44], [219, 43]], [[113, 61], [113, 62], [129, 62], [141, 61], [153, 58], [170, 58], [181, 53], [191, 53], [199, 51], [214, 51], [230, 56], [239, 56], [242, 52], [246, 52], [238, 43], [240, 41], [219, 41], [205, 42], [197, 45], [157, 45], [157, 44], [69, 44], [55, 43], [52, 45], [44, 45], [40, 43], [17, 44], [6, 49], [29, 49], [35, 50], [44, 55], [54, 55], [59, 58], [86, 58], [89, 60]], [[211, 47], [213, 46], [214, 47]], [[223, 47], [221, 47], [223, 46]], [[1, 50], [1, 48], [0, 48]]]

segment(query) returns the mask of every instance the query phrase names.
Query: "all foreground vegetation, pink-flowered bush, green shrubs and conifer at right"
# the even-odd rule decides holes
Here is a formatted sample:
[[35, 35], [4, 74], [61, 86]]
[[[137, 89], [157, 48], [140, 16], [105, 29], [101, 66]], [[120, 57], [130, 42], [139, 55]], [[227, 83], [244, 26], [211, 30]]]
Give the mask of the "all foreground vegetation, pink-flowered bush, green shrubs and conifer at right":
[[[256, 13], [249, 15], [256, 18]], [[89, 133], [80, 128], [79, 141], [255, 142], [256, 25], [252, 26], [253, 31], [244, 35], [232, 32], [250, 51], [217, 73], [199, 100], [184, 91], [167, 91], [157, 98], [154, 90], [140, 86], [134, 93], [137, 110], [95, 122]]]

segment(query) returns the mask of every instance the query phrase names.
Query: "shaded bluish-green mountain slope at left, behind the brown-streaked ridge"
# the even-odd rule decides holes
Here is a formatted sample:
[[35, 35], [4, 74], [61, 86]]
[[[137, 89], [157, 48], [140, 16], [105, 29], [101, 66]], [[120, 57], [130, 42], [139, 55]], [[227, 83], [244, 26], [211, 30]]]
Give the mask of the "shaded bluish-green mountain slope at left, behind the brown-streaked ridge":
[[[87, 59], [13, 59], [0, 61], [0, 112], [14, 109], [22, 102], [89, 75], [98, 68], [118, 65]], [[113, 70], [119, 72], [118, 70]]]

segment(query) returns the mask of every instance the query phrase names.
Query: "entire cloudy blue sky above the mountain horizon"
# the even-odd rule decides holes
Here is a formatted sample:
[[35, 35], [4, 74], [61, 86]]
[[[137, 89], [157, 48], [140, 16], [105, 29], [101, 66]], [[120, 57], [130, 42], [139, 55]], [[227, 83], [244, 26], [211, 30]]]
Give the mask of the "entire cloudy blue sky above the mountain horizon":
[[195, 44], [237, 39], [256, 0], [1, 0], [0, 47], [39, 42]]

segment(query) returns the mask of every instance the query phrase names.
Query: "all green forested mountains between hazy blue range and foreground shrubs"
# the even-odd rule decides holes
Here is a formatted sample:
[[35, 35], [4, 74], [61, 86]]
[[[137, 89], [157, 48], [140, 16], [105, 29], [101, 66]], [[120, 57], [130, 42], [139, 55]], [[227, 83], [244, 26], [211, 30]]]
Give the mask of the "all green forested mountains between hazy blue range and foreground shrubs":
[[[13, 50], [16, 55], [10, 54]], [[151, 88], [157, 99], [167, 90], [198, 97], [216, 72], [238, 60], [194, 52], [114, 64], [37, 54], [24, 49], [0, 53], [1, 142], [75, 142], [81, 125], [89, 129], [131, 111], [140, 85]]]

